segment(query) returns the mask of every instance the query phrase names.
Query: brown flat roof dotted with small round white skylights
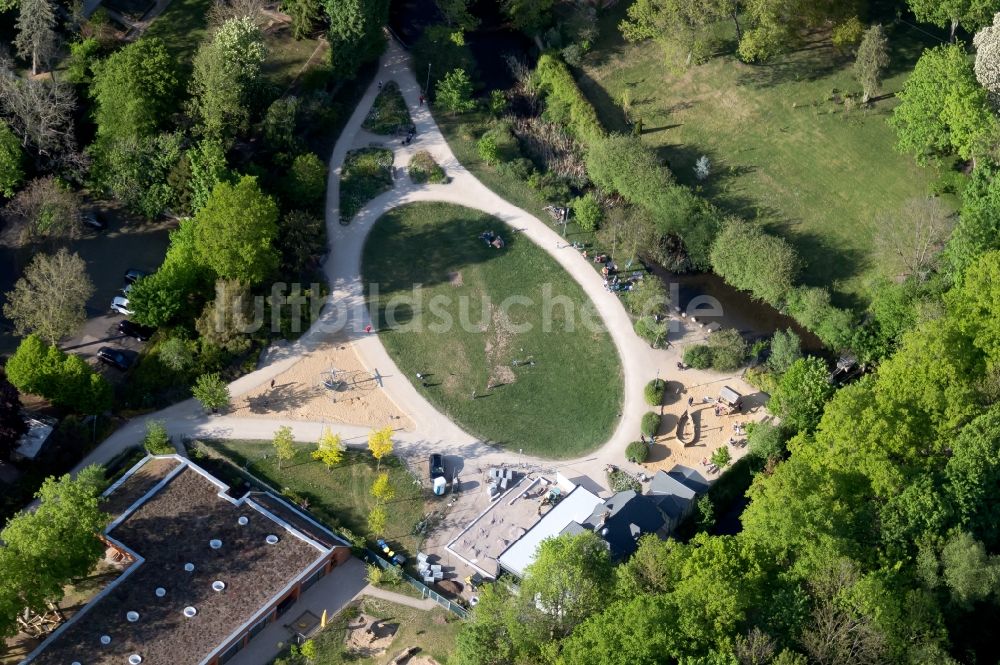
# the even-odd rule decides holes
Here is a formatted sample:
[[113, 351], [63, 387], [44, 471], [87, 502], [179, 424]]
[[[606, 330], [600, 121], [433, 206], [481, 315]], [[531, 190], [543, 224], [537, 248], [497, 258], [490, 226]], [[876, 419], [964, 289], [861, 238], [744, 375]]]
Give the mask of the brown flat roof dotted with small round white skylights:
[[[176, 455], [146, 457], [133, 467], [106, 493], [117, 517], [105, 538], [135, 562], [24, 662], [122, 665], [138, 654], [151, 665], [204, 663], [331, 551], [228, 489]], [[136, 495], [122, 506], [120, 499]], [[269, 535], [277, 542], [269, 544]], [[213, 547], [214, 540], [221, 544]], [[225, 585], [221, 591], [213, 589], [216, 581]], [[197, 613], [185, 616], [187, 607]]]

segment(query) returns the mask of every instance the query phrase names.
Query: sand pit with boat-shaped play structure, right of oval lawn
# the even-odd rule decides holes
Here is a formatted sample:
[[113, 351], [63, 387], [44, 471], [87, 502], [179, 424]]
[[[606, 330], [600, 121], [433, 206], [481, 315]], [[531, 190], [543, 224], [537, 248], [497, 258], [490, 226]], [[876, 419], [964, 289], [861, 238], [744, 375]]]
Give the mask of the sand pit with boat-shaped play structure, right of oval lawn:
[[[683, 378], [683, 374], [680, 375]], [[743, 409], [733, 415], [717, 416], [715, 399], [723, 386], [730, 386], [743, 394]], [[711, 401], [706, 401], [708, 398]], [[747, 449], [729, 446], [729, 439], [742, 439], [734, 433], [733, 425], [763, 420], [766, 397], [739, 378], [721, 379], [698, 386], [685, 387], [679, 381], [667, 382], [667, 394], [662, 408], [663, 420], [656, 443], [649, 449], [649, 458], [643, 465], [650, 475], [659, 470], [669, 471], [675, 464], [696, 469], [706, 478], [714, 480], [719, 474], [710, 474], [702, 461], [711, 458], [718, 448], [729, 447], [732, 460], [743, 457]], [[691, 401], [689, 406], [688, 400]], [[689, 445], [677, 440], [677, 422], [687, 411], [689, 421], [685, 432]]]

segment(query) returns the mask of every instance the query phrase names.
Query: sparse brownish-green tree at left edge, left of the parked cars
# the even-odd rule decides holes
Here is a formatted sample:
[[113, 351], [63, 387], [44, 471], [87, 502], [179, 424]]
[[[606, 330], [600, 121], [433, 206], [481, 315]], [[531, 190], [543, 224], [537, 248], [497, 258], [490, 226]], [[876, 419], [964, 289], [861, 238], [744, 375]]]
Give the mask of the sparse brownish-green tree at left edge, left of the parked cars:
[[35, 255], [24, 277], [6, 294], [3, 312], [19, 335], [34, 332], [54, 344], [83, 325], [93, 294], [87, 264], [78, 254], [60, 249], [53, 255]]

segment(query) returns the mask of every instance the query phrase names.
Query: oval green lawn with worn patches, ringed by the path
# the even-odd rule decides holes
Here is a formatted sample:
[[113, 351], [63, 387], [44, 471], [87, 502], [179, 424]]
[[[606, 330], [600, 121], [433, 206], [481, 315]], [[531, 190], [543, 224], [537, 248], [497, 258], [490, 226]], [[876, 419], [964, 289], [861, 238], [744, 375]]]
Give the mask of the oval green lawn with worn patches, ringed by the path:
[[[478, 235], [487, 230], [499, 232], [506, 247], [486, 247]], [[582, 454], [610, 436], [622, 400], [610, 335], [560, 304], [548, 308], [544, 330], [543, 289], [568, 298], [577, 314], [585, 309], [599, 318], [544, 250], [500, 220], [448, 204], [397, 208], [372, 230], [362, 271], [370, 297], [378, 285], [382, 343], [407, 376], [430, 375], [426, 387], [415, 382], [417, 390], [466, 430], [552, 458]], [[422, 299], [396, 307], [388, 325], [387, 302], [412, 296], [414, 284], [423, 285]], [[501, 304], [512, 295], [532, 304], [514, 303], [505, 318]], [[522, 324], [531, 329], [518, 332]], [[534, 366], [514, 366], [528, 360]]]

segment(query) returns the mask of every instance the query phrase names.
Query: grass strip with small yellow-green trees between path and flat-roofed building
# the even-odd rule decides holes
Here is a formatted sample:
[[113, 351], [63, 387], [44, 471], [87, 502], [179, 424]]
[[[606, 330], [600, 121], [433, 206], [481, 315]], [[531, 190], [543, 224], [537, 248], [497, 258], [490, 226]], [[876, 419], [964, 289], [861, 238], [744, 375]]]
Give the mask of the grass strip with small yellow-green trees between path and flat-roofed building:
[[[206, 445], [276, 490], [291, 490], [306, 499], [309, 510], [327, 524], [346, 527], [357, 535], [368, 532], [368, 511], [375, 505], [371, 486], [377, 475], [371, 455], [349, 450], [340, 466], [328, 470], [312, 459], [315, 444], [299, 443], [295, 457], [279, 469], [270, 441], [209, 441]], [[413, 525], [424, 517], [424, 490], [395, 457], [383, 460], [382, 470], [389, 472], [396, 490], [388, 504], [386, 540], [408, 556], [415, 555], [420, 542], [413, 535]]]

